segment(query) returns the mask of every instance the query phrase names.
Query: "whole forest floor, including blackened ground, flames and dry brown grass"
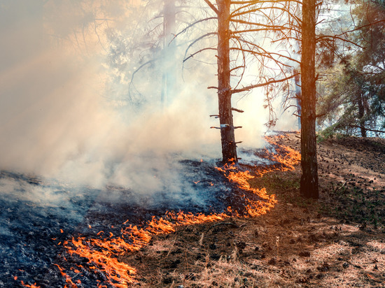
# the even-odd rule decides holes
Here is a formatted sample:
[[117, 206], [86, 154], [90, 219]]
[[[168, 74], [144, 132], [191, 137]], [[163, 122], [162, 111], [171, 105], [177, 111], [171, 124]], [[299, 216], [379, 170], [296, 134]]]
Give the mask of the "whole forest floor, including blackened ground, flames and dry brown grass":
[[[2, 200], [9, 202], [1, 216], [9, 235], [1, 241], [6, 264], [1, 285], [381, 287], [384, 142], [321, 143], [322, 193], [314, 202], [298, 195], [297, 137], [274, 136], [269, 141], [276, 144], [269, 149], [244, 151], [253, 153], [258, 166], [216, 168], [207, 161], [181, 161], [186, 182], [195, 187], [190, 200], [166, 193], [154, 195], [156, 201], [137, 199], [123, 187], [89, 188], [83, 199], [64, 183], [3, 172], [3, 187], [26, 193], [29, 185], [50, 189], [66, 194], [72, 205], [47, 208], [27, 197]], [[111, 194], [125, 201], [107, 201]], [[135, 201], [127, 204], [127, 199]], [[25, 217], [11, 219], [13, 209]], [[178, 209], [185, 212], [166, 213]]]

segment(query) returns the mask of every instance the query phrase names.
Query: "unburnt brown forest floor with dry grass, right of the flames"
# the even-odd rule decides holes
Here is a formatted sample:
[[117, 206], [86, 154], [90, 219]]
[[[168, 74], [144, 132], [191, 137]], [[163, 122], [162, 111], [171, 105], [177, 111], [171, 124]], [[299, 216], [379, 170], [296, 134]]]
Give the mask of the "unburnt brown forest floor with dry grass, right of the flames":
[[[277, 142], [300, 150], [299, 134]], [[253, 178], [267, 214], [155, 236], [122, 257], [140, 287], [385, 287], [385, 140], [318, 144], [319, 201], [300, 196], [300, 166]]]

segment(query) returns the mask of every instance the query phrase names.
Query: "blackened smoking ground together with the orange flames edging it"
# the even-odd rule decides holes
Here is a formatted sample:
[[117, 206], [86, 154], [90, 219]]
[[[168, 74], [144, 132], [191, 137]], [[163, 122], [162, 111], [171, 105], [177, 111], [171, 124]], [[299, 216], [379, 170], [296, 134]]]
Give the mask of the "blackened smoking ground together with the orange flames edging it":
[[[178, 181], [167, 178], [168, 187], [160, 181], [151, 194], [2, 171], [1, 286], [127, 287], [137, 281], [137, 270], [119, 255], [178, 226], [255, 216], [274, 204], [274, 196], [248, 187], [251, 176], [233, 167], [181, 159], [173, 168]], [[228, 179], [236, 174], [239, 183]], [[167, 212], [172, 210], [185, 212]]]

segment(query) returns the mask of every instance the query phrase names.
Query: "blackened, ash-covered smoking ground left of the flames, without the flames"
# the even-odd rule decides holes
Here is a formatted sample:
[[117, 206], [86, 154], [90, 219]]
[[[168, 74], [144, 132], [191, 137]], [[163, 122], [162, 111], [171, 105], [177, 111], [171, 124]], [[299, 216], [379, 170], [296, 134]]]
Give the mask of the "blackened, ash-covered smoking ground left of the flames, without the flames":
[[[99, 231], [119, 234], [123, 222], [140, 226], [167, 210], [207, 214], [221, 213], [228, 206], [244, 210], [246, 192], [216, 170], [214, 161], [185, 159], [178, 167], [178, 181], [183, 183], [179, 192], [164, 183], [152, 194], [114, 185], [92, 189], [1, 171], [0, 287], [22, 287], [21, 281], [64, 287], [65, 278], [55, 264], [69, 265], [62, 243], [73, 237], [96, 237]], [[103, 281], [102, 273], [83, 271], [82, 284], [77, 285], [97, 287]]]

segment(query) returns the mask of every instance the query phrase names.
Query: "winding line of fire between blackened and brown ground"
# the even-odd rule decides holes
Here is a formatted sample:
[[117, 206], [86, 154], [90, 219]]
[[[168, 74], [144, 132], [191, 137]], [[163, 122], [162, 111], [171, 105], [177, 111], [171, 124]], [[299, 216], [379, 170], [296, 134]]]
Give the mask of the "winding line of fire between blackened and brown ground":
[[[292, 133], [296, 134], [296, 132]], [[145, 245], [151, 243], [153, 236], [174, 233], [181, 226], [225, 222], [232, 217], [258, 217], [268, 213], [276, 203], [274, 194], [269, 194], [265, 188], [251, 187], [248, 180], [262, 177], [265, 173], [272, 171], [293, 170], [300, 162], [299, 152], [276, 143], [276, 138], [279, 137], [282, 136], [267, 138], [270, 143], [269, 147], [261, 149], [258, 153], [260, 157], [267, 160], [268, 164], [260, 165], [258, 168], [254, 166], [253, 173], [247, 170], [249, 166], [236, 166], [235, 162], [215, 167], [214, 171], [211, 171], [211, 176], [214, 175], [221, 182], [228, 181], [228, 185], [231, 187], [230, 197], [233, 199], [230, 202], [232, 202], [232, 206], [223, 208], [221, 213], [205, 214], [179, 210], [178, 212], [166, 211], [162, 215], [162, 211], [158, 210], [156, 211], [158, 215], [149, 216], [151, 219], [141, 224], [131, 224], [132, 219], [127, 219], [125, 222], [116, 224], [116, 227], [105, 226], [104, 230], [98, 231], [96, 235], [93, 235], [94, 237], [91, 235], [96, 231], [92, 229], [92, 224], [88, 224], [82, 229], [85, 230], [83, 235], [73, 236], [64, 241], [54, 239], [62, 252], [57, 255], [53, 266], [62, 275], [62, 282], [65, 282], [63, 287], [130, 287], [138, 282], [137, 269], [130, 263], [121, 261], [120, 257], [127, 253], [140, 251]], [[200, 169], [208, 168], [203, 161], [199, 161], [195, 165]], [[199, 186], [202, 185], [201, 182], [208, 180], [210, 178], [197, 179], [194, 183]], [[213, 194], [217, 185], [218, 183], [209, 182], [203, 187]], [[219, 187], [219, 189], [221, 188]], [[222, 206], [226, 204], [228, 203], [222, 203]], [[90, 212], [90, 217], [95, 219], [97, 216], [93, 214]], [[106, 217], [109, 216], [106, 215]], [[22, 281], [21, 283], [24, 287], [44, 287], [36, 282], [27, 284]]]

